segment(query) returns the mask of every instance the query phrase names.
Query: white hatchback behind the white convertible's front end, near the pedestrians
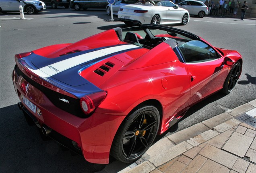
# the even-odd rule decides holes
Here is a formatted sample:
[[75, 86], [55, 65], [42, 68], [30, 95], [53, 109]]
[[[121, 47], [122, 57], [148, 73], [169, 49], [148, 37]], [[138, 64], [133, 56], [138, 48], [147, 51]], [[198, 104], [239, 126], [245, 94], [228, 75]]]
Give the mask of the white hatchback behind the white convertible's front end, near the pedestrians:
[[208, 7], [201, 1], [183, 0], [177, 5], [188, 10], [190, 15], [195, 15], [200, 18], [203, 18], [205, 14], [208, 14]]

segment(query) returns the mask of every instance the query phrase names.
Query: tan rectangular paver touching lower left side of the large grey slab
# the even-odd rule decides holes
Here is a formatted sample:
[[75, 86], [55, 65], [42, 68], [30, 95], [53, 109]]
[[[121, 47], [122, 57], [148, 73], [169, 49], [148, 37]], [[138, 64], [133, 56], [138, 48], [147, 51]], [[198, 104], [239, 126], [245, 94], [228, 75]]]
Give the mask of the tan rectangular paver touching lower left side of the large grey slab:
[[227, 153], [209, 144], [206, 144], [199, 154], [217, 163], [220, 163], [221, 165], [224, 165], [229, 169], [233, 167], [233, 165], [235, 164], [235, 161], [238, 158], [235, 155]]

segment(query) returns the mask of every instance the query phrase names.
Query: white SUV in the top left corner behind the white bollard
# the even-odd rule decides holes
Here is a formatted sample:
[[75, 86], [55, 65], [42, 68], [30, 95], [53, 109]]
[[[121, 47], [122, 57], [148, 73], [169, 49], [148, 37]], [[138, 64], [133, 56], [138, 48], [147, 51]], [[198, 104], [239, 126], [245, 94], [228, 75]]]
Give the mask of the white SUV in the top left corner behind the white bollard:
[[45, 10], [45, 4], [39, 0], [0, 0], [0, 12], [19, 12], [22, 6], [27, 14], [35, 14]]

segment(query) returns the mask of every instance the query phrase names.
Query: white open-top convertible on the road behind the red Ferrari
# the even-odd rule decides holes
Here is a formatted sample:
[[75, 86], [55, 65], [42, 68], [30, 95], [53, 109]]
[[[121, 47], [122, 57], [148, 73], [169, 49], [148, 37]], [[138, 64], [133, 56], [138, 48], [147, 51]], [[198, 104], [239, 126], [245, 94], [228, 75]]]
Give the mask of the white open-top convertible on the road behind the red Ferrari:
[[189, 13], [168, 0], [150, 0], [145, 4], [137, 3], [119, 9], [118, 20], [125, 24], [175, 24], [186, 25]]

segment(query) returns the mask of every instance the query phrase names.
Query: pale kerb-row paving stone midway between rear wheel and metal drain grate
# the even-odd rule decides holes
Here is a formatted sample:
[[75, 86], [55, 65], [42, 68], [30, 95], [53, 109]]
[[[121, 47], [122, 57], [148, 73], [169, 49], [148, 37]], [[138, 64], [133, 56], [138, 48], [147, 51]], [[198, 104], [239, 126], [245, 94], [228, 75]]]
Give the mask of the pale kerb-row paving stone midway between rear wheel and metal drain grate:
[[200, 135], [197, 135], [196, 137], [190, 138], [187, 142], [191, 145], [193, 145], [194, 147], [196, 147], [197, 145], [204, 143], [205, 141], [208, 141], [209, 139], [212, 139], [213, 137], [219, 135], [219, 133], [217, 131], [214, 130], [208, 130], [203, 132]]

